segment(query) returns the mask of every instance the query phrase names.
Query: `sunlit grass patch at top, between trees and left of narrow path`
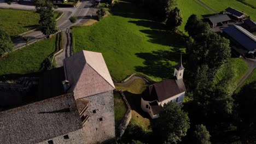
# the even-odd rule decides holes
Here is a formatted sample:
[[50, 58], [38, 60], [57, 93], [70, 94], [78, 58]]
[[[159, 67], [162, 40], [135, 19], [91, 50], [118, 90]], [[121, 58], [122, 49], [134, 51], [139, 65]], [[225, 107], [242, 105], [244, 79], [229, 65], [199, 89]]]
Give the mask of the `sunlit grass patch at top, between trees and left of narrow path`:
[[183, 32], [185, 31], [184, 27], [190, 15], [196, 14], [197, 16], [202, 18], [202, 15], [213, 14], [211, 10], [208, 10], [207, 8], [203, 7], [196, 0], [179, 0], [177, 6], [179, 9], [181, 9], [183, 17], [182, 25], [179, 27], [179, 29]]

